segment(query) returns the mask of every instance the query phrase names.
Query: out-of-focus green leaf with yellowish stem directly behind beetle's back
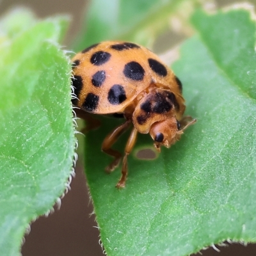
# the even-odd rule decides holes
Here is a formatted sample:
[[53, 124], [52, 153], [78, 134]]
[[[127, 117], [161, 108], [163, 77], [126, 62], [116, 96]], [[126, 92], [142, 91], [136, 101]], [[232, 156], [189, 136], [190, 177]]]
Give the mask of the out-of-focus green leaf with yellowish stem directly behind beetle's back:
[[[182, 6], [186, 3], [186, 8]], [[152, 46], [156, 36], [168, 27], [173, 12], [189, 13], [200, 0], [94, 0], [76, 41], [77, 51], [103, 40], [129, 40]]]

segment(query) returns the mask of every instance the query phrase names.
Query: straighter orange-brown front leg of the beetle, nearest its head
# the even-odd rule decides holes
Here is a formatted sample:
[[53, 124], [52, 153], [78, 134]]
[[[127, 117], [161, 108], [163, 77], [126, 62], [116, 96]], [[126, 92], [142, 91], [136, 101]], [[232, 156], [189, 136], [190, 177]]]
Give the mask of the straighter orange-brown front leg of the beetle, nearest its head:
[[124, 188], [125, 187], [125, 181], [127, 179], [127, 173], [128, 173], [128, 166], [127, 166], [127, 156], [131, 153], [132, 148], [134, 147], [137, 139], [138, 131], [135, 127], [133, 127], [131, 135], [129, 136], [129, 139], [125, 146], [125, 155], [123, 159], [123, 166], [122, 166], [122, 176], [118, 183], [116, 184], [116, 188]]

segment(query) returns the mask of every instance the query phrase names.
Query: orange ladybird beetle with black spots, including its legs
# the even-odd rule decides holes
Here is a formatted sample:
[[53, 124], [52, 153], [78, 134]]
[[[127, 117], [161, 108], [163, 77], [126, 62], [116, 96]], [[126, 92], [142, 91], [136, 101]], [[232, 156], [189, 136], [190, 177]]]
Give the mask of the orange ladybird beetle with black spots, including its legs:
[[[138, 132], [149, 132], [160, 152], [161, 146], [169, 148], [180, 139], [184, 129], [196, 122], [191, 116], [182, 117], [186, 106], [178, 77], [143, 46], [130, 42], [102, 42], [77, 53], [72, 61], [76, 95], [72, 103], [82, 110], [83, 116], [93, 113], [125, 117], [124, 124], [111, 131], [102, 143], [102, 151], [114, 157], [106, 167], [107, 172], [112, 172], [123, 157], [111, 148], [112, 145], [133, 125], [117, 188], [125, 186], [127, 156], [136, 143]], [[93, 126], [96, 126], [93, 122], [89, 124]]]

